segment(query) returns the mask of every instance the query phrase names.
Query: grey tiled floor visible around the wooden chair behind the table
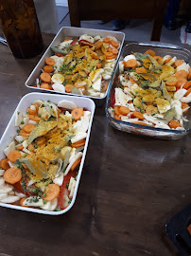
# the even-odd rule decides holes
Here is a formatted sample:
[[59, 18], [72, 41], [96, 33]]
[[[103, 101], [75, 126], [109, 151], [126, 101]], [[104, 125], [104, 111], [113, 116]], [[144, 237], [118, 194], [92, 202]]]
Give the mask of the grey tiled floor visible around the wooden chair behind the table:
[[[70, 26], [69, 10], [66, 7], [58, 7], [59, 29]], [[113, 23], [109, 22], [99, 25], [98, 21], [82, 21], [81, 27], [113, 30]], [[130, 20], [130, 24], [121, 31], [126, 34], [126, 40], [130, 41], [149, 41], [151, 36], [152, 21], [150, 20]], [[162, 30], [161, 42], [181, 45], [180, 40], [181, 28], [168, 30], [165, 26]]]

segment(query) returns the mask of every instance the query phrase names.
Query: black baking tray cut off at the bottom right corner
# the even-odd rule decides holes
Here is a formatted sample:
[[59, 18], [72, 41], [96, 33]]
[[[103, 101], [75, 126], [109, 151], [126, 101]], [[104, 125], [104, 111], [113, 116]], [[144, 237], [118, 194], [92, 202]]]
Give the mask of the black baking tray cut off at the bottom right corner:
[[180, 255], [191, 255], [191, 235], [187, 227], [191, 224], [191, 205], [176, 214], [166, 225], [165, 232], [174, 245], [179, 249]]

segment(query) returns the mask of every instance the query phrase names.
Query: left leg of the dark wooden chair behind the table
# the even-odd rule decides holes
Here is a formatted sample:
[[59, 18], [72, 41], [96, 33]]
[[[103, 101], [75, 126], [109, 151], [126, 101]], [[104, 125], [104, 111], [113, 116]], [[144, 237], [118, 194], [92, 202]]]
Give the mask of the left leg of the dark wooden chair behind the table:
[[68, 0], [68, 7], [71, 27], [81, 27], [78, 13], [78, 0]]

